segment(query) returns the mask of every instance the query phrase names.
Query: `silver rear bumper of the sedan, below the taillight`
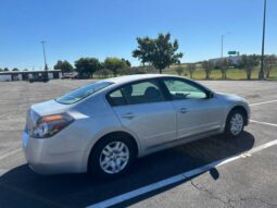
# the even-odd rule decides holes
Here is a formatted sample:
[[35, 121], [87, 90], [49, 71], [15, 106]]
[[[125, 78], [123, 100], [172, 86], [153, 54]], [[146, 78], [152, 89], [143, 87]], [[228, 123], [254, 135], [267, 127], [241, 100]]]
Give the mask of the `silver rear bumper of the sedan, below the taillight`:
[[33, 138], [26, 132], [23, 133], [22, 146], [30, 169], [39, 174], [86, 172], [84, 151], [59, 152], [54, 139]]

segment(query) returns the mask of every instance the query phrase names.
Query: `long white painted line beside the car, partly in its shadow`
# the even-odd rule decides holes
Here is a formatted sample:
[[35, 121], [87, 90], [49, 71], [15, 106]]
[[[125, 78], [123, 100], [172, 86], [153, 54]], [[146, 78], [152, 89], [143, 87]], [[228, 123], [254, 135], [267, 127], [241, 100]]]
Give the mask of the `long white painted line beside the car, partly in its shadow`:
[[143, 194], [148, 194], [150, 192], [160, 189], [162, 187], [166, 187], [166, 186], [175, 184], [177, 182], [188, 180], [191, 176], [196, 176], [196, 175], [198, 175], [200, 173], [203, 173], [203, 172], [206, 172], [206, 171], [209, 171], [213, 168], [221, 167], [223, 164], [227, 164], [227, 163], [229, 163], [231, 161], [235, 161], [235, 160], [238, 160], [240, 158], [251, 157], [254, 152], [261, 151], [263, 149], [266, 149], [266, 148], [275, 146], [275, 145], [277, 145], [277, 139], [272, 140], [269, 143], [266, 143], [264, 145], [254, 147], [253, 149], [251, 149], [249, 151], [245, 151], [245, 152], [242, 152], [242, 154], [239, 154], [239, 155], [235, 155], [235, 156], [226, 158], [226, 159], [222, 159], [222, 160], [211, 162], [209, 164], [205, 164], [203, 167], [193, 169], [191, 171], [187, 171], [187, 172], [180, 173], [178, 175], [175, 175], [175, 176], [172, 176], [172, 178], [152, 183], [152, 184], [143, 186], [143, 187], [140, 187], [138, 189], [135, 189], [135, 191], [131, 191], [131, 192], [128, 192], [128, 193], [109, 198], [106, 200], [103, 200], [103, 201], [100, 201], [100, 203], [97, 203], [97, 204], [93, 204], [91, 206], [88, 206], [87, 208], [104, 208], [104, 207], [110, 207], [110, 206], [117, 205], [119, 203], [124, 203], [126, 200], [133, 199], [133, 198], [141, 196]]

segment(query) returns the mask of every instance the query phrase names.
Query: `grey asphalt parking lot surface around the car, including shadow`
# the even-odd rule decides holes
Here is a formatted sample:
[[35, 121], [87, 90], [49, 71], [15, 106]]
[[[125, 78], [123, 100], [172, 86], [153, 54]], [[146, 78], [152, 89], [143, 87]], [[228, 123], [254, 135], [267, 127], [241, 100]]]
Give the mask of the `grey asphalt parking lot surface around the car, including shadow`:
[[277, 207], [277, 82], [202, 82], [249, 100], [252, 122], [237, 140], [161, 151], [114, 181], [34, 173], [21, 149], [26, 110], [88, 82], [0, 83], [0, 207]]

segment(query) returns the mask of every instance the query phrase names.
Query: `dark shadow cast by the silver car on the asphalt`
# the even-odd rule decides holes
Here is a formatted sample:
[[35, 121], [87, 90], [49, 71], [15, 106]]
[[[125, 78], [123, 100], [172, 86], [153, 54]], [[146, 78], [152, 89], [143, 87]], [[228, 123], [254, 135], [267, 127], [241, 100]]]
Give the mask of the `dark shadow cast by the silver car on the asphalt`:
[[[86, 207], [247, 151], [254, 142], [248, 132], [239, 139], [207, 137], [139, 159], [128, 174], [113, 181], [99, 181], [88, 174], [38, 175], [23, 164], [0, 178], [0, 207]], [[216, 180], [221, 173], [213, 169], [211, 176]], [[175, 185], [126, 201], [124, 207]]]

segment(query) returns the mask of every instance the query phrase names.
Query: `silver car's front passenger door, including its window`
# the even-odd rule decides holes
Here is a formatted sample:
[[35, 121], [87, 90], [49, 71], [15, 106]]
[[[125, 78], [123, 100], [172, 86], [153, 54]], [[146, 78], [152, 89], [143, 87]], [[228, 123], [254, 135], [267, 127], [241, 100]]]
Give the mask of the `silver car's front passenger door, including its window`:
[[187, 137], [219, 130], [223, 108], [215, 97], [184, 78], [164, 78], [177, 113], [177, 137]]

